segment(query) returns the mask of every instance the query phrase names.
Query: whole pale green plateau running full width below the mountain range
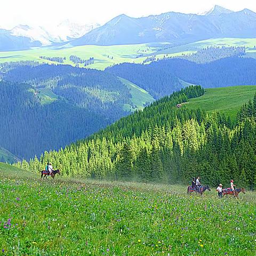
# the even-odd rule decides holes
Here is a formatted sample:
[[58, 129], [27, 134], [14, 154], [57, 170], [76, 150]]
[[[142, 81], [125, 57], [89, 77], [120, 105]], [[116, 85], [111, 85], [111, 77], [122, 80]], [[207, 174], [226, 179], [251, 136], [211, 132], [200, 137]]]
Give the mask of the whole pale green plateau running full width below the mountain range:
[[[163, 58], [168, 54], [168, 57], [177, 56], [181, 54], [193, 53], [203, 47], [215, 45], [215, 46], [246, 46], [249, 49], [246, 50], [247, 57], [256, 58], [256, 45], [255, 38], [216, 38], [205, 41], [198, 41], [195, 43], [184, 44], [181, 46], [175, 46], [167, 50], [157, 51], [159, 47], [167, 45], [166, 43], [157, 44], [134, 44], [134, 45], [112, 45], [112, 46], [97, 46], [97, 45], [84, 45], [76, 47], [43, 47], [26, 51], [12, 51], [12, 52], [0, 52], [0, 63], [6, 61], [19, 61], [19, 60], [35, 60], [39, 62], [57, 63], [47, 60], [39, 59], [40, 55], [47, 57], [66, 57], [65, 64], [73, 65], [74, 63], [69, 60], [70, 55], [77, 55], [82, 59], [89, 59], [94, 57], [94, 64], [87, 66], [89, 68], [105, 69], [108, 66], [123, 63], [142, 63], [146, 57], [153, 54], [157, 55], [157, 58]], [[140, 54], [143, 57], [136, 58]], [[109, 57], [114, 57], [110, 59]], [[150, 62], [147, 62], [150, 63]], [[83, 65], [80, 65], [83, 67]]]

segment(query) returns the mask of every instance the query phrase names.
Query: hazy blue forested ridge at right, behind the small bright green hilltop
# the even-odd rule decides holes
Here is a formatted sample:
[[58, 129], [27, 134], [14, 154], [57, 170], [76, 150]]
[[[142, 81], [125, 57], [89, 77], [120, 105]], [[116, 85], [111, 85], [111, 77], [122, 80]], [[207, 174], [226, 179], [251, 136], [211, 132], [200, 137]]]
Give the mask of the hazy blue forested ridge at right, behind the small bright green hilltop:
[[106, 71], [137, 84], [159, 99], [181, 89], [180, 79], [205, 88], [254, 85], [255, 69], [255, 59], [229, 57], [200, 64], [185, 59], [165, 59], [149, 65], [123, 63]]

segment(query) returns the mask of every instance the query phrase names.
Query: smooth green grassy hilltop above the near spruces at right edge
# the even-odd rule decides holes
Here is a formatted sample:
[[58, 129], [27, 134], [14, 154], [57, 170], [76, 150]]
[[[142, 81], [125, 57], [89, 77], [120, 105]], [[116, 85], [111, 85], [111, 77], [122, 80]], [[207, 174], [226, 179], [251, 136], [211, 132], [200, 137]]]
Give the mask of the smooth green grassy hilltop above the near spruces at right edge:
[[255, 92], [255, 85], [206, 89], [203, 96], [190, 99], [186, 107], [201, 108], [209, 113], [219, 111], [220, 113], [227, 114], [234, 121], [237, 111], [244, 103], [253, 99]]

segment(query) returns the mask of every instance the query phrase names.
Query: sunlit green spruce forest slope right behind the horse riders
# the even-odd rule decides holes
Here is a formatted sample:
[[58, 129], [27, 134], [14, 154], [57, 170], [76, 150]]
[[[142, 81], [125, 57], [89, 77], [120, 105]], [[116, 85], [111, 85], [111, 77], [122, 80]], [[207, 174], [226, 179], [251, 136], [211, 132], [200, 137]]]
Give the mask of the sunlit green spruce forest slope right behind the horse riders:
[[190, 86], [85, 141], [18, 166], [37, 172], [51, 161], [63, 174], [79, 177], [187, 183], [201, 175], [214, 186], [233, 178], [238, 186], [254, 188], [256, 95], [235, 124], [219, 113], [176, 106], [203, 93]]

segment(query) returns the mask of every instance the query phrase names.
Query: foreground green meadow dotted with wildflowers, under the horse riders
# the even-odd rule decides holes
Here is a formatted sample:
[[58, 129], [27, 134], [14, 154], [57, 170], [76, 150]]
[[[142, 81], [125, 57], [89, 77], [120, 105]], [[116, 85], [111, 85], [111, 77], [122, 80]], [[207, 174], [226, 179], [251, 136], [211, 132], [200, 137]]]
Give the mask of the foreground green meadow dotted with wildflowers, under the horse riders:
[[255, 255], [255, 193], [219, 200], [186, 186], [41, 181], [5, 164], [0, 191], [3, 255]]

